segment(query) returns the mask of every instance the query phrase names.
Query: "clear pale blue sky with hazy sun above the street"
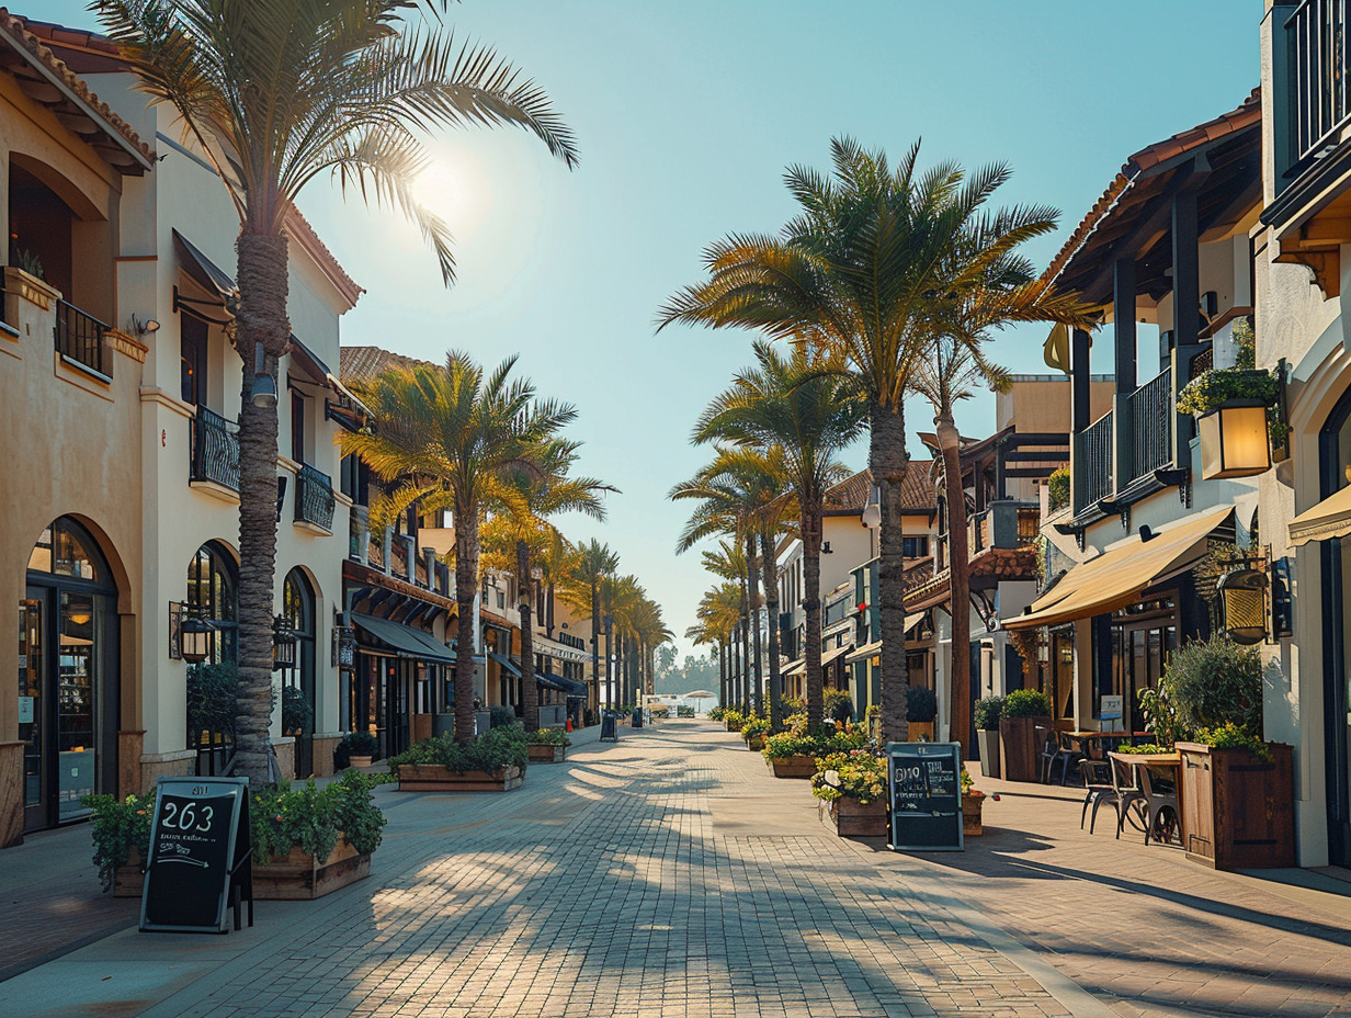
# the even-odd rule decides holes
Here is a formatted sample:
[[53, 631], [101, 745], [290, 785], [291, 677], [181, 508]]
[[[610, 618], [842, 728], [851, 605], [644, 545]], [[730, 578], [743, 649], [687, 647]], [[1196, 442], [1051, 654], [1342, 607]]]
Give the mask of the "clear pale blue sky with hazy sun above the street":
[[[84, 0], [14, 0], [42, 20], [96, 28]], [[463, 0], [446, 24], [534, 78], [577, 135], [569, 172], [516, 128], [432, 139], [420, 183], [455, 234], [442, 287], [416, 230], [326, 181], [301, 210], [365, 296], [342, 341], [426, 360], [462, 349], [576, 404], [578, 473], [617, 487], [608, 519], [559, 520], [620, 554], [677, 634], [711, 585], [677, 556], [688, 503], [671, 485], [707, 461], [690, 427], [750, 360], [751, 335], [669, 327], [657, 308], [701, 278], [705, 245], [774, 231], [793, 215], [789, 165], [828, 169], [832, 137], [969, 169], [1005, 161], [1001, 204], [1062, 211], [1027, 247], [1044, 266], [1125, 158], [1233, 110], [1258, 84], [1262, 0]], [[1001, 333], [993, 360], [1046, 372], [1046, 327]], [[1143, 342], [1143, 341], [1142, 341]], [[1111, 370], [1109, 343], [1094, 370]], [[931, 412], [911, 406], [907, 423]], [[994, 427], [993, 397], [958, 414]], [[912, 453], [923, 449], [912, 442]], [[866, 465], [859, 445], [846, 457]], [[678, 639], [682, 654], [689, 644]]]

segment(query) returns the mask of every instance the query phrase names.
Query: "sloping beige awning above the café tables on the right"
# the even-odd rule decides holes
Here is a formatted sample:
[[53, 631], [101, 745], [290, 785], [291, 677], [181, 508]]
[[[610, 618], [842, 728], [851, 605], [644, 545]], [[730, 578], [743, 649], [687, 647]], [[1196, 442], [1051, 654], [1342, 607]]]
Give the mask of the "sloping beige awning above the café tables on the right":
[[[1002, 619], [1004, 629], [1054, 626], [1101, 615], [1140, 599], [1146, 588], [1196, 562], [1206, 538], [1233, 512], [1232, 506], [1190, 516], [1150, 541], [1133, 538], [1074, 566], [1023, 615]], [[1351, 527], [1348, 527], [1351, 529]]]

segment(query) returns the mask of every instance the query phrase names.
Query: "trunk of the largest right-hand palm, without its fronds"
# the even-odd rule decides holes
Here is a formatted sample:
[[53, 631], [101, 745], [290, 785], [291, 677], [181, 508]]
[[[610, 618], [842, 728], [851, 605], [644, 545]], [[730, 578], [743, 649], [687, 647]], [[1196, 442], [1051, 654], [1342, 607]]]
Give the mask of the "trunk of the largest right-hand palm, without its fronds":
[[909, 734], [909, 675], [905, 671], [905, 543], [898, 493], [909, 456], [905, 418], [900, 407], [873, 403], [869, 408], [869, 466], [881, 488], [878, 534], [878, 611], [882, 622], [882, 742], [905, 742]]

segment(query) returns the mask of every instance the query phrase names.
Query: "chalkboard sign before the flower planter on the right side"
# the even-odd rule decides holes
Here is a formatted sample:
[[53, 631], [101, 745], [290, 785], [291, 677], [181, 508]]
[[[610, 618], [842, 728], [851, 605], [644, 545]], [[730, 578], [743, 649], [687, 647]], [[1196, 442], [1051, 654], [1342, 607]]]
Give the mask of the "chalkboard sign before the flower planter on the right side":
[[961, 852], [962, 748], [957, 742], [890, 742], [892, 844], [897, 852]]

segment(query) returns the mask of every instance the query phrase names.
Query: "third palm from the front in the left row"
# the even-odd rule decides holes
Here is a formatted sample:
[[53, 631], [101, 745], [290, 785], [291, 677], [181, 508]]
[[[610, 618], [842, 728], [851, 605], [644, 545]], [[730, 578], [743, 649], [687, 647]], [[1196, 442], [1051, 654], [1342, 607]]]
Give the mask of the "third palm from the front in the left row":
[[[555, 438], [539, 447], [527, 465], [528, 469], [508, 470], [507, 484], [515, 488], [507, 502], [508, 511], [494, 516], [484, 531], [485, 550], [492, 549], [499, 553], [490, 557], [488, 565], [511, 572], [516, 577], [516, 608], [520, 615], [520, 702], [527, 731], [539, 727], [531, 561], [542, 562], [549, 556], [550, 546], [562, 541], [558, 530], [549, 523], [549, 516], [559, 512], [584, 512], [592, 519], [604, 520], [605, 507], [601, 506], [600, 493], [616, 491], [594, 477], [567, 476], [577, 461], [580, 445]], [[489, 533], [494, 535], [496, 546], [488, 542]], [[501, 554], [503, 552], [505, 554]], [[540, 571], [543, 572], [542, 566]]]

